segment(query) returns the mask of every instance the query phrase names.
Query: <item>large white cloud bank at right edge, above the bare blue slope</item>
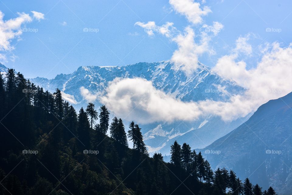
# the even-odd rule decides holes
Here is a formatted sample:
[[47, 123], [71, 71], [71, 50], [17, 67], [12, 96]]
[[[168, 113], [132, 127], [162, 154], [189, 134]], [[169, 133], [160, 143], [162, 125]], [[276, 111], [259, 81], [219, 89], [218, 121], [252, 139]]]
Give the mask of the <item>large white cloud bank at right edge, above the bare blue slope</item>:
[[[238, 41], [236, 42], [238, 47]], [[243, 44], [245, 45], [245, 43]], [[248, 48], [248, 49], [246, 49]], [[244, 47], [248, 55], [251, 49]], [[263, 49], [261, 61], [253, 69], [247, 69], [244, 61], [238, 61], [237, 54], [225, 55], [218, 59], [214, 71], [235, 80], [248, 90], [242, 96], [234, 96], [226, 104], [224, 119], [235, 119], [252, 112], [263, 103], [280, 98], [292, 91], [292, 48], [281, 48], [279, 43], [268, 44]]]

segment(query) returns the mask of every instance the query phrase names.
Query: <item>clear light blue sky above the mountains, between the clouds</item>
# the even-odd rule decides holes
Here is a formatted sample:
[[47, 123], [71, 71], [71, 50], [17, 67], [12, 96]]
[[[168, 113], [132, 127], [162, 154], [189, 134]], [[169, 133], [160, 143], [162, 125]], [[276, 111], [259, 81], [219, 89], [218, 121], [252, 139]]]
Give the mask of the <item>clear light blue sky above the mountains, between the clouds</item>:
[[[8, 53], [2, 62], [28, 78], [54, 78], [60, 73], [72, 73], [79, 66], [122, 66], [171, 59], [177, 44], [161, 34], [148, 36], [143, 28], [134, 25], [139, 21], [155, 21], [159, 26], [172, 22], [180, 32], [190, 26], [196, 34], [203, 24], [220, 22], [223, 29], [210, 41], [215, 53], [203, 53], [198, 58], [211, 67], [220, 57], [230, 54], [240, 36], [252, 34], [249, 44], [253, 52], [244, 56], [249, 68], [260, 60], [259, 44], [278, 41], [287, 47], [292, 42], [292, 2], [289, 0], [219, 0], [206, 1], [202, 6], [208, 6], [212, 12], [202, 16], [202, 23], [193, 24], [164, 0], [1, 0], [4, 21], [18, 17], [17, 12], [44, 14], [44, 19], [34, 19], [21, 26], [30, 29], [29, 32], [23, 32], [19, 36], [21, 40], [19, 37], [10, 40], [14, 49], [1, 51], [3, 55]], [[92, 32], [84, 32], [84, 28]], [[267, 32], [267, 28], [275, 32]], [[11, 61], [10, 56], [16, 56], [15, 60]]]

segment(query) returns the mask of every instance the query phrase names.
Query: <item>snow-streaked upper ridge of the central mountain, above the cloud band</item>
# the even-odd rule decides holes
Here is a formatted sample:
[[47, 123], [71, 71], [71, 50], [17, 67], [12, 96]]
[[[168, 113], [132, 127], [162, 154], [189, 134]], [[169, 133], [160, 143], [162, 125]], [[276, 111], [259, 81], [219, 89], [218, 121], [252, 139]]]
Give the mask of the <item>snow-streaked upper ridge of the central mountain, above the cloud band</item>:
[[102, 94], [116, 77], [144, 78], [151, 81], [156, 89], [182, 101], [228, 101], [231, 95], [245, 91], [235, 81], [217, 75], [201, 62], [197, 62], [197, 69], [189, 76], [183, 69], [174, 67], [170, 60], [127, 66], [80, 66], [71, 74], [59, 74], [51, 80], [37, 77], [32, 82], [50, 92], [56, 88], [62, 89], [64, 93], [73, 95], [80, 107], [86, 103], [80, 95], [80, 87], [94, 94]]

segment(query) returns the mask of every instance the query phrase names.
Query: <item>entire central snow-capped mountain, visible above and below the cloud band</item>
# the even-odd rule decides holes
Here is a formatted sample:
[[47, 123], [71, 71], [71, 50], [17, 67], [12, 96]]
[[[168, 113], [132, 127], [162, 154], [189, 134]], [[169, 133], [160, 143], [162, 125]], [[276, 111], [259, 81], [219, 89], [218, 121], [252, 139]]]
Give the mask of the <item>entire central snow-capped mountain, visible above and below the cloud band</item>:
[[[151, 81], [156, 89], [185, 102], [205, 99], [228, 101], [231, 95], [245, 91], [244, 87], [233, 80], [217, 75], [210, 67], [200, 62], [197, 66], [196, 71], [188, 76], [184, 73], [182, 66], [175, 68], [170, 61], [140, 62], [128, 66], [81, 66], [71, 74], [60, 74], [51, 80], [36, 77], [31, 81], [50, 92], [59, 88], [63, 93], [63, 98], [74, 104], [77, 110], [88, 103], [80, 95], [80, 87], [85, 87], [92, 94], [103, 95], [109, 81], [116, 77], [144, 78]], [[94, 103], [96, 106], [101, 105], [98, 100]], [[183, 142], [180, 138], [188, 135], [187, 139], [191, 147], [206, 147], [242, 124], [243, 121], [245, 119], [225, 123], [219, 117], [210, 115], [194, 122], [175, 121], [171, 124], [155, 122], [141, 127], [149, 151], [169, 154], [169, 144], [172, 144], [174, 139]]]

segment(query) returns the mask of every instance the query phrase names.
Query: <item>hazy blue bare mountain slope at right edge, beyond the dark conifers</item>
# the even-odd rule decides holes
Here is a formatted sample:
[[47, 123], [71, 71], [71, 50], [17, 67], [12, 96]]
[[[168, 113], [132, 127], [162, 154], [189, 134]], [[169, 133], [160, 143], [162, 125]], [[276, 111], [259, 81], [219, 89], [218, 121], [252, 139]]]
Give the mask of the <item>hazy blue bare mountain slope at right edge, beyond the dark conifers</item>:
[[[213, 169], [227, 167], [279, 194], [292, 193], [292, 92], [270, 100], [244, 124], [201, 151]], [[220, 154], [218, 154], [220, 153]]]

